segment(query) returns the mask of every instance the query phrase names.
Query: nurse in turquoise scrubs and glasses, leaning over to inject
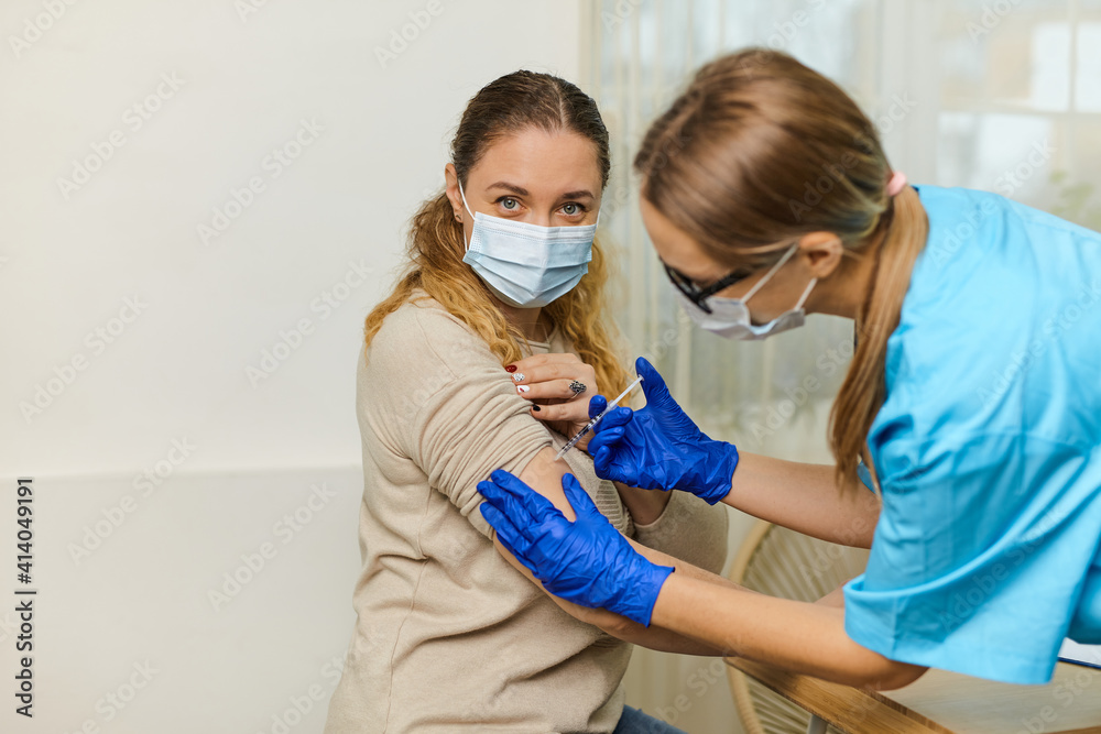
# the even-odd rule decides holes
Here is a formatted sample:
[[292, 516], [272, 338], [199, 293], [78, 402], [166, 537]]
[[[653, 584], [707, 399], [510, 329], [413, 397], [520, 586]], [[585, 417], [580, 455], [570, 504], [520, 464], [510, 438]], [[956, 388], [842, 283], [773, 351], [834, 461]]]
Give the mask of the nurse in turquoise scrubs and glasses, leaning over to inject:
[[598, 474], [850, 545], [876, 496], [871, 556], [819, 603], [775, 599], [655, 566], [584, 494], [567, 493], [569, 522], [494, 472], [482, 512], [545, 588], [877, 689], [928, 667], [1043, 683], [1064, 637], [1101, 643], [1101, 235], [907, 185], [840, 88], [765, 51], [701, 68], [635, 168], [654, 249], [702, 328], [762, 339], [818, 313], [853, 319], [858, 339], [830, 416], [836, 465], [710, 439], [639, 360], [646, 406], [598, 425]]

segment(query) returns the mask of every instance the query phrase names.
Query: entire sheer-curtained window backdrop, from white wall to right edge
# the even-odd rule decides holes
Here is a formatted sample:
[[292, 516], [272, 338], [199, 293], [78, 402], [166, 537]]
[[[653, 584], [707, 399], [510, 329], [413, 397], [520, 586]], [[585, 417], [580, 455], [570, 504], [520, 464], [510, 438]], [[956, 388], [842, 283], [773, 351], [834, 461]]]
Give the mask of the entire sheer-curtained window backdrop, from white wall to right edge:
[[[1101, 0], [591, 0], [585, 14], [581, 83], [613, 144], [601, 224], [620, 263], [617, 318], [701, 428], [743, 450], [831, 461], [826, 427], [852, 325], [814, 316], [764, 342], [728, 341], [694, 329], [674, 302], [631, 161], [706, 61], [786, 51], [857, 99], [912, 182], [1101, 227]], [[738, 543], [746, 523], [733, 516]], [[640, 650], [631, 702], [694, 733], [737, 731], [724, 680], [697, 688], [699, 668]]]

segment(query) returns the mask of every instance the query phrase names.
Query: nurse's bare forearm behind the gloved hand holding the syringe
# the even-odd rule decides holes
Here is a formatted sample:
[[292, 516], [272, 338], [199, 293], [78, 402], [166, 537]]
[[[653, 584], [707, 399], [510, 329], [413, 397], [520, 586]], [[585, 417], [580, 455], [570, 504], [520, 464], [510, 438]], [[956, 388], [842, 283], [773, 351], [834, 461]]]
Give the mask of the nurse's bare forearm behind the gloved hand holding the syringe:
[[833, 467], [740, 453], [724, 503], [744, 513], [844, 546], [870, 548], [880, 503], [860, 480], [839, 487]]

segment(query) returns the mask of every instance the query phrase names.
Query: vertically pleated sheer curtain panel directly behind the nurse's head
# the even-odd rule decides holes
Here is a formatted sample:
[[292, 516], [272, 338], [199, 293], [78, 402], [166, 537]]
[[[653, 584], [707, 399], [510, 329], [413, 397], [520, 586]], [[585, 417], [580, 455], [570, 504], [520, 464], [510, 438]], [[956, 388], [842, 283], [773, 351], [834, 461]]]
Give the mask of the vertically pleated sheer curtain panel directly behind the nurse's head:
[[[811, 13], [805, 8], [818, 7]], [[637, 215], [631, 160], [650, 121], [701, 63], [750, 44], [786, 48], [876, 102], [875, 9], [859, 0], [797, 2], [611, 2], [593, 7], [596, 91], [613, 145], [606, 242], [622, 263], [618, 318], [674, 395], [711, 435], [748, 450], [826, 460], [830, 401], [851, 357], [851, 324], [814, 317], [799, 332], [764, 342], [694, 329]], [[606, 194], [606, 197], [608, 194]], [[608, 216], [608, 215], [611, 216]], [[807, 386], [811, 386], [808, 390]]]

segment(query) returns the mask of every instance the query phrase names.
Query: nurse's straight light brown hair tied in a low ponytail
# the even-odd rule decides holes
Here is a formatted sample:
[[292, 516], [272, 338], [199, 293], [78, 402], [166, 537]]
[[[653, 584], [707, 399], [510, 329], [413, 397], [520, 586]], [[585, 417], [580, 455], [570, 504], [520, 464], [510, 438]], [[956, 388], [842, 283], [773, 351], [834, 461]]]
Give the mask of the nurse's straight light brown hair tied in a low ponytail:
[[634, 165], [647, 201], [731, 269], [766, 267], [816, 231], [836, 233], [846, 255], [874, 259], [829, 431], [839, 484], [863, 459], [877, 486], [868, 434], [928, 219], [913, 188], [886, 194], [892, 169], [872, 122], [822, 75], [750, 48], [699, 69], [651, 125]]

